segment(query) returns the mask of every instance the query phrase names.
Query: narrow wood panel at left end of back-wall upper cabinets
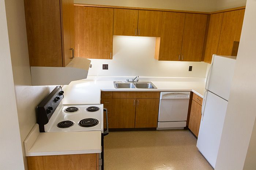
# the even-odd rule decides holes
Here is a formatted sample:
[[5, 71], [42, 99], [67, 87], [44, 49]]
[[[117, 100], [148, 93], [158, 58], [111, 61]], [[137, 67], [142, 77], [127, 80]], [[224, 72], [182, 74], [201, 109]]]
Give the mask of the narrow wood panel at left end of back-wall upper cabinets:
[[84, 54], [84, 15], [82, 6], [74, 6], [75, 20], [75, 56], [83, 57]]

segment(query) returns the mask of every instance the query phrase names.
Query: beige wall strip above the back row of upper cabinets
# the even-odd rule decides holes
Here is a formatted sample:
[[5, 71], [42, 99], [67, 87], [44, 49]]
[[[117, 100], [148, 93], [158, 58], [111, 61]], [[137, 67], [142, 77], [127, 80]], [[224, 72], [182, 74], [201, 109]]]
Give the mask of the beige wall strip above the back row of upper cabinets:
[[74, 3], [212, 12], [244, 6], [246, 0], [74, 0]]

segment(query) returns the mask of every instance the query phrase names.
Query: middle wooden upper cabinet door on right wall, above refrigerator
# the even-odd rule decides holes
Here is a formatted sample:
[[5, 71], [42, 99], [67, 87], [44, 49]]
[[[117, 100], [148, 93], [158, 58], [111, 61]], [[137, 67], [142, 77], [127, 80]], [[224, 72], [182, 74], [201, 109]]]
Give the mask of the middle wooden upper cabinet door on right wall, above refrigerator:
[[231, 55], [237, 30], [239, 10], [223, 13], [218, 55]]

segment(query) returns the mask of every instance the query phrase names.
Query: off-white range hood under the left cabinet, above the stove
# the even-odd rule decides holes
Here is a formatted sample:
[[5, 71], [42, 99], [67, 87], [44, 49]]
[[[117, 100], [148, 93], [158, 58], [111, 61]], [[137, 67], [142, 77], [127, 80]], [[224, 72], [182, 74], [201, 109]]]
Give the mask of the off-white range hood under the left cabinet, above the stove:
[[86, 79], [91, 60], [75, 57], [66, 67], [30, 67], [32, 86], [67, 85]]

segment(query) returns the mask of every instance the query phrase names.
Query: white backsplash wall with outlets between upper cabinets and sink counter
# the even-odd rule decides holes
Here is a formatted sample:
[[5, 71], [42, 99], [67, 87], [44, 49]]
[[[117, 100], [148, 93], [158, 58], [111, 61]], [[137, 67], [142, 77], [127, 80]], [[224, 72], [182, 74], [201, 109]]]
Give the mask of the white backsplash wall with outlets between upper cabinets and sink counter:
[[[207, 63], [158, 61], [154, 54], [155, 37], [114, 36], [113, 60], [90, 59], [88, 75], [205, 78]], [[102, 64], [109, 64], [109, 70], [102, 70]]]

